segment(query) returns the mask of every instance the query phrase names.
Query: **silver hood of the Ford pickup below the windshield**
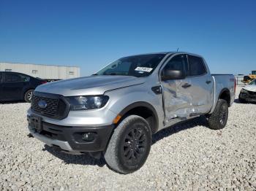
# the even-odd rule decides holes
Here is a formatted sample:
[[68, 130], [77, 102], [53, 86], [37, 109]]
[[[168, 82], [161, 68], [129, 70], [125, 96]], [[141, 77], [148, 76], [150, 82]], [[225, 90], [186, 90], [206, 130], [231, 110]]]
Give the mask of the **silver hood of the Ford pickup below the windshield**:
[[80, 77], [39, 85], [35, 91], [64, 96], [102, 95], [105, 91], [130, 85], [139, 85], [144, 83], [145, 80], [145, 77], [138, 78], [129, 76]]

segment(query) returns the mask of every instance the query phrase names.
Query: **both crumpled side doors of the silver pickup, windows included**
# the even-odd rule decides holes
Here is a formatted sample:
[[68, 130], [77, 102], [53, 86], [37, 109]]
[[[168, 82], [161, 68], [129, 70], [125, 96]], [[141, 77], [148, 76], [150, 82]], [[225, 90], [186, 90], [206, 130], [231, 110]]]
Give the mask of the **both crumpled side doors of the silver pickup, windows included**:
[[213, 98], [213, 82], [203, 62], [187, 55], [176, 55], [162, 69], [184, 71], [183, 79], [162, 80], [165, 123], [187, 120], [209, 112]]

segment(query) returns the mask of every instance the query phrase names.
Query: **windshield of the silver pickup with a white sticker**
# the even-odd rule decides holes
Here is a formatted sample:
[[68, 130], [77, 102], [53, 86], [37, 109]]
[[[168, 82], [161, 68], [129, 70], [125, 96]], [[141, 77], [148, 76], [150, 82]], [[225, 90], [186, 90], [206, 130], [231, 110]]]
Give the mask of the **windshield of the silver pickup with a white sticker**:
[[96, 75], [124, 75], [146, 77], [150, 75], [162, 61], [165, 54], [134, 55], [110, 63], [96, 73]]

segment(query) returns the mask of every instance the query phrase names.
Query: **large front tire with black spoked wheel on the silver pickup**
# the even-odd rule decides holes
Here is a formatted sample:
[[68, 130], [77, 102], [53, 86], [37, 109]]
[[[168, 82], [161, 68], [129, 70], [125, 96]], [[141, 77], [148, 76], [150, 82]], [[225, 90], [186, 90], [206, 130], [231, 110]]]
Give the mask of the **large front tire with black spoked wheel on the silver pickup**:
[[146, 162], [151, 148], [151, 128], [140, 116], [126, 117], [114, 130], [105, 151], [105, 161], [114, 171], [130, 174]]

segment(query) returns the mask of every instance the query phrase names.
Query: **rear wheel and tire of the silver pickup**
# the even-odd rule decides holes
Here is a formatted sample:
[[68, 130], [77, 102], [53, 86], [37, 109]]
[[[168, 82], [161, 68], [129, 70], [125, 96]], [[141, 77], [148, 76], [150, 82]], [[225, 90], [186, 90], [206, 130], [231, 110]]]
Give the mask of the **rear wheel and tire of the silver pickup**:
[[225, 128], [228, 118], [227, 101], [219, 99], [214, 112], [207, 117], [209, 128], [219, 130]]

